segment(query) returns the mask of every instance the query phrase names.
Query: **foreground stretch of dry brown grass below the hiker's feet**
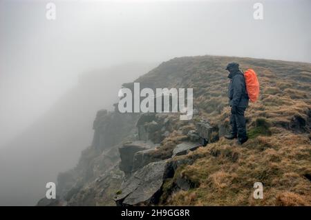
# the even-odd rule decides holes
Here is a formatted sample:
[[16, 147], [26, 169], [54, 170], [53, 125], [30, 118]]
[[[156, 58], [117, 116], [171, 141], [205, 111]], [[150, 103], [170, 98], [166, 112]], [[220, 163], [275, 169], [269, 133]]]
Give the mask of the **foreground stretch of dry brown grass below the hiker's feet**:
[[[182, 174], [198, 181], [198, 188], [171, 195], [168, 203], [178, 206], [305, 206], [311, 204], [311, 146], [308, 137], [286, 133], [256, 137], [245, 146], [220, 139]], [[238, 155], [238, 156], [233, 156]], [[238, 159], [236, 159], [238, 157]], [[235, 158], [235, 159], [234, 159]], [[264, 199], [254, 199], [253, 184], [263, 183]], [[195, 196], [194, 196], [195, 195]], [[191, 199], [189, 199], [191, 198]]]

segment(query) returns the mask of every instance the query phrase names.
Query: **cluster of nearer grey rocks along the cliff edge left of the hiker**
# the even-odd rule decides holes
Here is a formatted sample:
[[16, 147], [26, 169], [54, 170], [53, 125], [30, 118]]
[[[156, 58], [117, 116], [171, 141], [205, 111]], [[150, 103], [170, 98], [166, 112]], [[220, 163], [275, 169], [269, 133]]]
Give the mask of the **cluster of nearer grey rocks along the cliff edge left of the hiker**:
[[[172, 177], [180, 163], [177, 156], [185, 155], [202, 146], [200, 140], [206, 138], [215, 141], [212, 135], [217, 132], [207, 121], [200, 121], [198, 130], [185, 130], [189, 141], [183, 141], [173, 148], [171, 159], [157, 157], [157, 143], [170, 133], [170, 121], [165, 114], [146, 113], [136, 123], [138, 141], [124, 143], [119, 148], [120, 170], [125, 173], [124, 181], [115, 196], [117, 206], [140, 206], [157, 203], [163, 181]], [[156, 144], [155, 144], [156, 143]], [[173, 159], [173, 160], [172, 160]], [[189, 161], [188, 161], [189, 162]], [[187, 189], [194, 186], [187, 179], [176, 179], [176, 189]]]

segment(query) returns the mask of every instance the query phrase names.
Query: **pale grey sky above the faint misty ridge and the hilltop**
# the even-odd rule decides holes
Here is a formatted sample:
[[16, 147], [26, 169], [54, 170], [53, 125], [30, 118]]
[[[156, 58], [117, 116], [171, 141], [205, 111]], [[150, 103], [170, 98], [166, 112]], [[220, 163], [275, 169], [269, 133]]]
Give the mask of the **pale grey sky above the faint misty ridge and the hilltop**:
[[3, 139], [94, 68], [203, 54], [311, 61], [310, 1], [261, 1], [262, 21], [256, 1], [53, 1], [55, 21], [47, 2], [0, 1]]

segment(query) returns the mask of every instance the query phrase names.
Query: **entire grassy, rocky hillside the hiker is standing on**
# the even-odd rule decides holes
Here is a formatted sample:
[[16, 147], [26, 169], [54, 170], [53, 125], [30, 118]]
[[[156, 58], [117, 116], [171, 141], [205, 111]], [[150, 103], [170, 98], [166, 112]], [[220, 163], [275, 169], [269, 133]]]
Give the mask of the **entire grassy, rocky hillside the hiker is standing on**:
[[[249, 141], [242, 147], [223, 139], [229, 132], [230, 114], [224, 67], [232, 61], [256, 70], [261, 83], [261, 97], [245, 112]], [[266, 197], [263, 205], [308, 204], [310, 68], [310, 63], [213, 56], [161, 63], [135, 82], [141, 89], [193, 88], [193, 119], [180, 121], [178, 113], [120, 113], [117, 104], [113, 112], [100, 110], [91, 146], [75, 168], [59, 174], [57, 199], [41, 199], [38, 205], [189, 206], [203, 201], [204, 205], [253, 206], [258, 201], [233, 195], [244, 198], [243, 184], [252, 190], [256, 178], [269, 183], [267, 187], [276, 186], [279, 193]], [[133, 90], [133, 82], [123, 86]], [[232, 184], [234, 188], [227, 187]], [[228, 192], [225, 197], [218, 195], [223, 191]], [[185, 194], [191, 201], [184, 199]]]

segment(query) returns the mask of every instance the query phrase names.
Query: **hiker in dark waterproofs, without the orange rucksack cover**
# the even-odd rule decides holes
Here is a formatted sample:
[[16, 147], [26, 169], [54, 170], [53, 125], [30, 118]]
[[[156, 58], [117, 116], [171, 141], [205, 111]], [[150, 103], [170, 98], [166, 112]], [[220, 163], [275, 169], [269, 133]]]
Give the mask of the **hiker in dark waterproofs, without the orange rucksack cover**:
[[231, 134], [225, 135], [226, 139], [238, 139], [238, 144], [247, 141], [244, 112], [248, 106], [248, 95], [243, 72], [239, 70], [238, 63], [229, 63], [226, 70], [230, 79], [228, 88], [229, 105], [231, 106], [230, 124]]

